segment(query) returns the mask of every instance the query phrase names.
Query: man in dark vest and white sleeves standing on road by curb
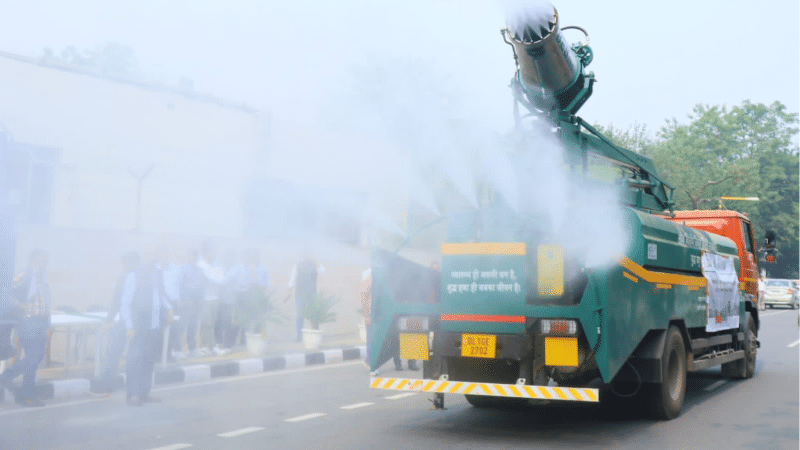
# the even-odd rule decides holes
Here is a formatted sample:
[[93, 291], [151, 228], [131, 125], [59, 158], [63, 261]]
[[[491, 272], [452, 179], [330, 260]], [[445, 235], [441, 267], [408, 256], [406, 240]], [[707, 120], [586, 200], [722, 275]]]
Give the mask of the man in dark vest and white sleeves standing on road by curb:
[[119, 310], [130, 340], [125, 371], [125, 394], [130, 406], [159, 401], [150, 396], [153, 366], [159, 352], [162, 320], [171, 322], [174, 314], [156, 266], [155, 251], [148, 250], [143, 260], [142, 266], [125, 277]]

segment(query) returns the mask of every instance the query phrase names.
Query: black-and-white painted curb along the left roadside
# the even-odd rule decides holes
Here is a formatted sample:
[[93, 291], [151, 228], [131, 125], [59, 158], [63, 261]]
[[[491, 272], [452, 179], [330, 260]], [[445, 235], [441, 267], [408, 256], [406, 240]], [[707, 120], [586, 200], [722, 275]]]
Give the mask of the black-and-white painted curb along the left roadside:
[[[215, 378], [254, 375], [284, 369], [299, 369], [320, 364], [335, 364], [364, 359], [366, 346], [320, 350], [310, 353], [290, 353], [269, 358], [245, 358], [221, 361], [212, 364], [192, 364], [177, 367], [156, 368], [153, 385], [197, 383]], [[108, 394], [125, 389], [125, 375], [114, 378], [72, 378], [38, 383], [36, 391], [42, 400], [69, 399], [89, 393]], [[13, 399], [13, 396], [9, 396]], [[3, 403], [0, 392], [0, 403]]]

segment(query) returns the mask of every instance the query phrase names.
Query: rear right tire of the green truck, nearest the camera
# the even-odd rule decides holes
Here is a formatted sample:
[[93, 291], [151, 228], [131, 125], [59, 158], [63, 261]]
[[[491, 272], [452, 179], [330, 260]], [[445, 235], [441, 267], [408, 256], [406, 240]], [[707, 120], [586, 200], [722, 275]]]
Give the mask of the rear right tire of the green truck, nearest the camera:
[[664, 353], [661, 355], [661, 383], [650, 386], [649, 407], [653, 418], [669, 420], [678, 417], [686, 396], [686, 347], [675, 325], [667, 330]]

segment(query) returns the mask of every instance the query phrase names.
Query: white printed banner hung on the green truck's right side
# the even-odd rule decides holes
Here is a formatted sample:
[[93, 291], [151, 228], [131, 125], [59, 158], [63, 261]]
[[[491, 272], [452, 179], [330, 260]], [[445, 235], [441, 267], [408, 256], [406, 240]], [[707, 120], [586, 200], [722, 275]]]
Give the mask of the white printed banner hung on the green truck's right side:
[[701, 267], [708, 281], [706, 331], [739, 328], [739, 278], [734, 258], [703, 252]]

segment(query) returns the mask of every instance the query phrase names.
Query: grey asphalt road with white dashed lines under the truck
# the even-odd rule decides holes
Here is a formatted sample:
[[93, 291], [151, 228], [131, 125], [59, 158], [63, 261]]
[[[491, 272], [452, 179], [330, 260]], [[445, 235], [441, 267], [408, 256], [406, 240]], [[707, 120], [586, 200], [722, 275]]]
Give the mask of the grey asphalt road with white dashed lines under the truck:
[[[609, 417], [581, 405], [519, 410], [471, 407], [446, 397], [375, 391], [359, 362], [176, 385], [140, 408], [124, 396], [0, 405], [0, 449], [242, 448], [800, 448], [797, 311], [762, 313], [756, 376], [689, 377], [683, 413], [672, 421], [638, 413]], [[389, 367], [389, 366], [385, 366]]]

